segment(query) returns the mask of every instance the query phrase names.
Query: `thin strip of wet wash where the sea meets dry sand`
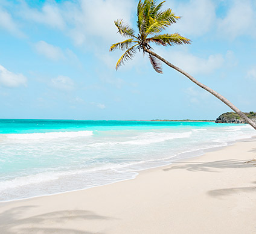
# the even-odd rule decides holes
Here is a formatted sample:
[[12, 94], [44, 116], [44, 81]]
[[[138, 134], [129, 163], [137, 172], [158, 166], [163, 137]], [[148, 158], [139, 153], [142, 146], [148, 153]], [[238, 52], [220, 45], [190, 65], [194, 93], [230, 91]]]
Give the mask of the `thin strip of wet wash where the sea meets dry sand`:
[[39, 197], [48, 197], [48, 196], [54, 196], [54, 195], [59, 195], [59, 194], [65, 194], [65, 193], [68, 193], [68, 192], [83, 191], [83, 190], [86, 190], [86, 189], [91, 189], [91, 188], [97, 188], [97, 187], [100, 187], [100, 186], [111, 185], [112, 183], [123, 182], [123, 181], [126, 181], [126, 180], [133, 180], [133, 179], [136, 179], [136, 177], [142, 171], [153, 170], [155, 168], [161, 168], [161, 167], [167, 167], [168, 165], [171, 165], [173, 163], [176, 163], [176, 162], [179, 162], [179, 161], [182, 162], [185, 159], [197, 158], [197, 157], [200, 157], [200, 156], [204, 155], [207, 152], [216, 152], [218, 150], [224, 149], [225, 147], [232, 146], [232, 145], [234, 145], [236, 143], [243, 142], [243, 141], [248, 141], [248, 140], [254, 140], [254, 139], [256, 140], [256, 135], [252, 136], [252, 137], [249, 137], [249, 138], [242, 138], [242, 139], [238, 139], [238, 140], [235, 140], [235, 141], [228, 141], [228, 142], [226, 142], [226, 146], [214, 146], [214, 147], [209, 147], [209, 148], [206, 148], [206, 149], [197, 149], [197, 150], [193, 150], [193, 151], [190, 151], [190, 152], [178, 153], [173, 158], [179, 157], [181, 155], [188, 155], [188, 156], [185, 156], [184, 158], [174, 159], [171, 162], [167, 162], [167, 164], [165, 164], [165, 165], [156, 165], [155, 167], [131, 170], [130, 172], [135, 173], [135, 174], [134, 174], [133, 177], [130, 177], [128, 179], [120, 179], [120, 180], [115, 180], [114, 182], [104, 183], [103, 185], [89, 186], [88, 188], [80, 188], [80, 189], [74, 189], [74, 190], [69, 190], [69, 191], [64, 191], [64, 192], [55, 192], [55, 193], [52, 193], [52, 194], [43, 194], [43, 195], [39, 195], [39, 196], [25, 197], [25, 198], [21, 198], [21, 199], [13, 199], [13, 200], [4, 200], [4, 201], [0, 200], [0, 206], [1, 206], [2, 203], [16, 202], [16, 201], [34, 199], [34, 198], [39, 198]]

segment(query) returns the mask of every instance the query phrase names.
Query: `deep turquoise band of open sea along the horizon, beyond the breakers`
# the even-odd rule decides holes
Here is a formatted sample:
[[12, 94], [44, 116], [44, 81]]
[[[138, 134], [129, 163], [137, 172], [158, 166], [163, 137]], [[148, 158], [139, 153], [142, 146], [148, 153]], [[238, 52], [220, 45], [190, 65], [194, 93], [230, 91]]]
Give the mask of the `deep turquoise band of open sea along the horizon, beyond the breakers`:
[[28, 134], [57, 131], [107, 131], [181, 126], [210, 126], [211, 122], [152, 122], [118, 120], [0, 120], [0, 134]]

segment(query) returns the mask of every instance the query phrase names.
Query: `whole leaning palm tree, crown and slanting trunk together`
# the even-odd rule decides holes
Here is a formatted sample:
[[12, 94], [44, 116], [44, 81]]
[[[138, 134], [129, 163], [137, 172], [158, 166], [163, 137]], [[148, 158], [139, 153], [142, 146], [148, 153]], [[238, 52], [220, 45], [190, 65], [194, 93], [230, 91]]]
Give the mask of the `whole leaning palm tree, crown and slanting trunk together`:
[[176, 16], [173, 11], [168, 8], [167, 10], [161, 11], [161, 7], [165, 1], [157, 4], [157, 0], [144, 0], [142, 2], [139, 0], [138, 8], [137, 8], [137, 26], [138, 26], [138, 34], [135, 35], [135, 31], [121, 20], [116, 20], [115, 25], [118, 28], [118, 32], [123, 36], [127, 37], [127, 40], [123, 42], [118, 42], [113, 44], [110, 47], [109, 51], [115, 51], [115, 49], [121, 49], [125, 51], [124, 54], [117, 61], [116, 69], [118, 69], [125, 61], [130, 60], [136, 54], [136, 51], [142, 51], [144, 54], [149, 54], [150, 63], [155, 69], [156, 72], [162, 73], [162, 66], [159, 60], [167, 64], [169, 67], [181, 72], [183, 75], [187, 76], [188, 79], [193, 81], [195, 84], [199, 85], [199, 87], [204, 90], [210, 92], [226, 105], [228, 105], [233, 111], [235, 111], [242, 119], [245, 120], [246, 123], [249, 123], [255, 130], [256, 124], [252, 122], [240, 109], [234, 106], [228, 99], [223, 97], [221, 94], [197, 81], [193, 76], [180, 69], [179, 67], [174, 66], [169, 63], [167, 60], [153, 52], [150, 43], [155, 43], [156, 45], [162, 46], [173, 46], [173, 45], [182, 45], [182, 44], [190, 44], [190, 40], [188, 38], [182, 37], [179, 33], [174, 34], [160, 34], [164, 29], [168, 26], [176, 23], [180, 18]]

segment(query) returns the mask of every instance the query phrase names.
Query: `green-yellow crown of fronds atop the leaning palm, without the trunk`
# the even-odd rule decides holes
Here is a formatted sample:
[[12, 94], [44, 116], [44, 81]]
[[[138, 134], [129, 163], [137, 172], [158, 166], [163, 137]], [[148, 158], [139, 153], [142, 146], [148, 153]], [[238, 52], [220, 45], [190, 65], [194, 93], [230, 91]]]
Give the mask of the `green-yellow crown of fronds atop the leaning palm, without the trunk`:
[[[131, 59], [135, 55], [136, 49], [142, 50], [143, 53], [152, 49], [150, 43], [156, 43], [162, 46], [190, 44], [191, 41], [188, 38], [182, 37], [178, 33], [160, 34], [168, 26], [176, 23], [180, 17], [175, 16], [170, 8], [161, 11], [165, 1], [159, 4], [157, 2], [157, 0], [139, 0], [137, 7], [138, 35], [135, 35], [135, 31], [123, 19], [115, 21], [118, 32], [123, 37], [129, 37], [129, 39], [123, 42], [118, 42], [110, 46], [109, 51], [115, 51], [116, 49], [126, 51], [118, 60], [116, 69], [124, 64], [125, 61]], [[153, 69], [158, 73], [162, 73], [161, 63], [159, 63], [158, 59], [153, 55], [150, 55], [149, 59]]]

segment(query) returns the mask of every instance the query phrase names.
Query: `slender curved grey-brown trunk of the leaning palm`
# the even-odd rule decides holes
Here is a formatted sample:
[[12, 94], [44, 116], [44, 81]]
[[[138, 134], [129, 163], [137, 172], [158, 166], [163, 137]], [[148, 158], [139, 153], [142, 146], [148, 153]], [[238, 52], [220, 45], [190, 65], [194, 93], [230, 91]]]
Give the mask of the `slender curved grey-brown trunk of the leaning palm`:
[[159, 60], [163, 61], [165, 64], [167, 64], [169, 67], [172, 67], [173, 69], [177, 70], [178, 72], [181, 72], [183, 75], [187, 76], [188, 79], [190, 79], [192, 82], [197, 84], [199, 87], [203, 88], [204, 90], [208, 91], [209, 93], [213, 94], [217, 97], [217, 99], [220, 99], [222, 102], [224, 102], [227, 106], [229, 106], [233, 111], [235, 111], [243, 120], [245, 120], [246, 123], [249, 123], [249, 125], [252, 126], [256, 130], [256, 123], [254, 123], [251, 119], [249, 119], [240, 109], [238, 109], [236, 106], [234, 106], [231, 102], [229, 102], [228, 99], [223, 97], [221, 94], [217, 93], [216, 91], [212, 90], [208, 86], [202, 84], [201, 82], [197, 81], [193, 76], [188, 74], [187, 72], [184, 72], [184, 70], [180, 69], [179, 67], [174, 66], [173, 64], [169, 63], [167, 60], [159, 56], [153, 51], [150, 51], [149, 49], [144, 49], [147, 53], [155, 56]]

